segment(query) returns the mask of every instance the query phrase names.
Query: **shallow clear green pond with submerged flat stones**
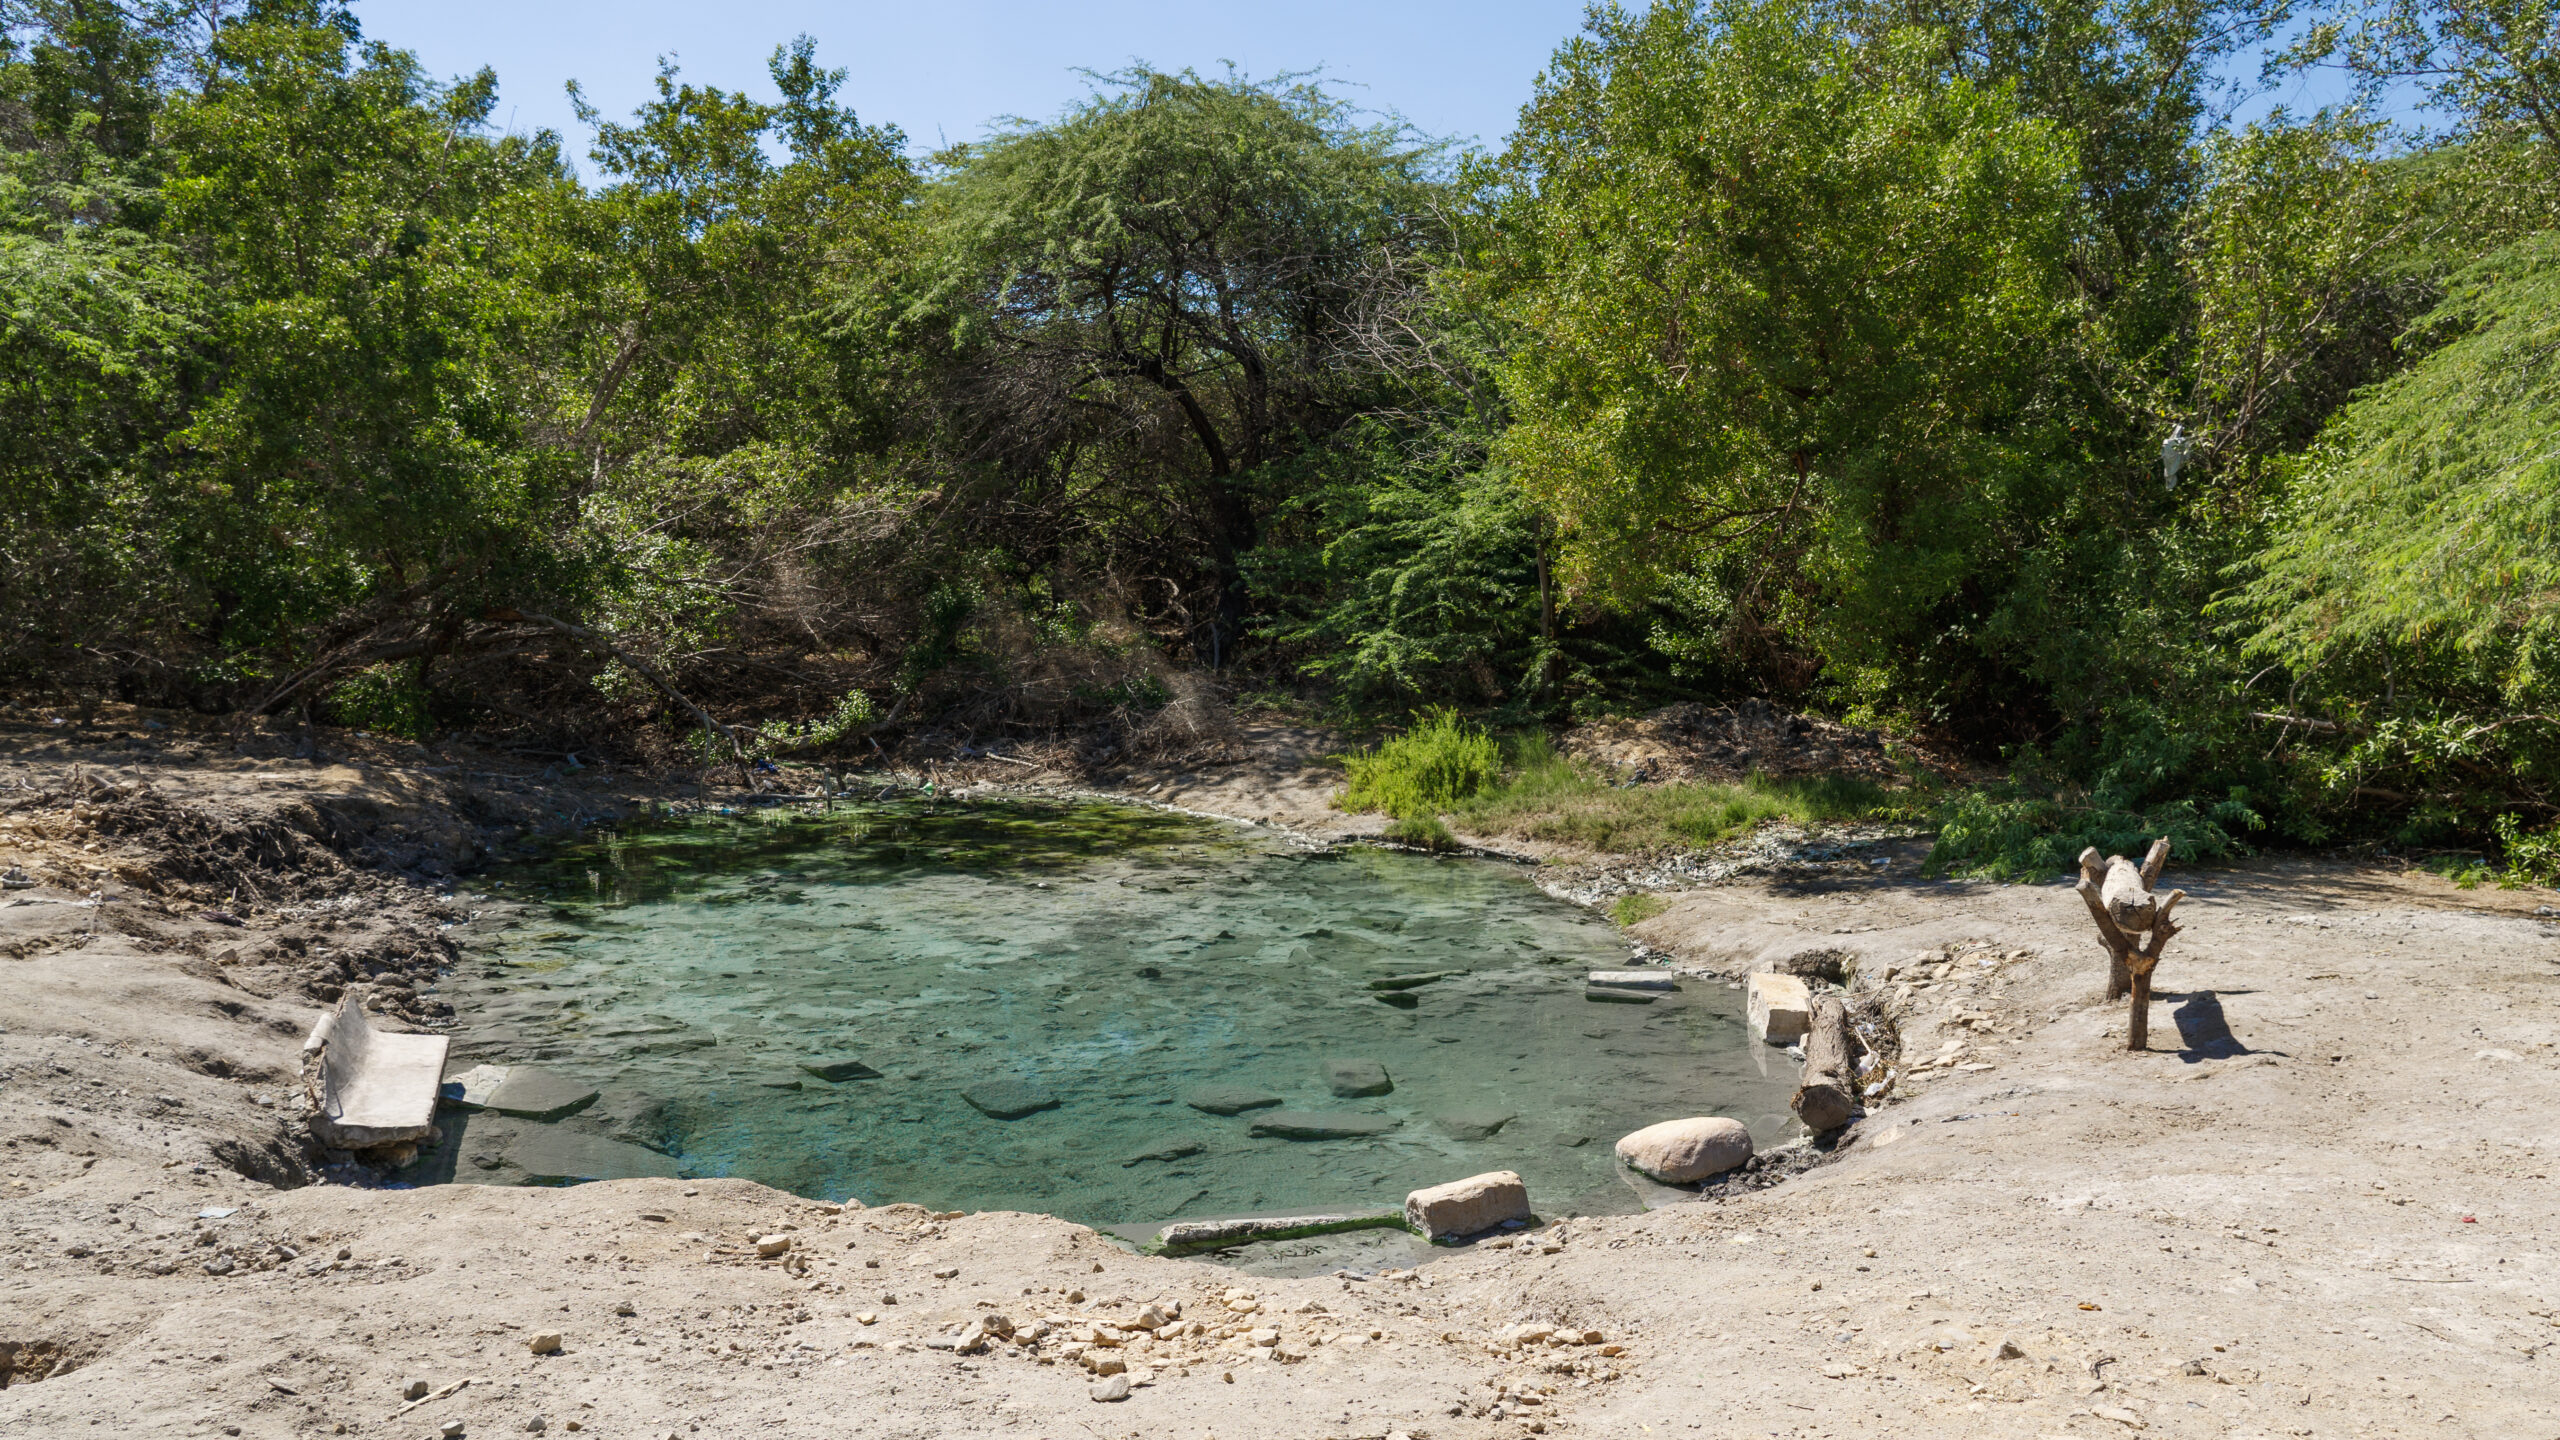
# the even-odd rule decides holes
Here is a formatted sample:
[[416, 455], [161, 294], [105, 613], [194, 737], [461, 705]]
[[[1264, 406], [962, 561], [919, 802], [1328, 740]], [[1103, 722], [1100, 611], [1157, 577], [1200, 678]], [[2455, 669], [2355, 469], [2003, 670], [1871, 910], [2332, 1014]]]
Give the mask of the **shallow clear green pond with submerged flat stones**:
[[[1585, 974], [1626, 969], [1626, 940], [1490, 861], [1306, 851], [1134, 805], [919, 799], [632, 828], [494, 879], [522, 922], [445, 984], [453, 1074], [596, 1086], [556, 1125], [686, 1176], [1155, 1225], [1393, 1207], [1513, 1168], [1572, 1215], [1633, 1207], [1610, 1143], [1638, 1125], [1795, 1133], [1789, 1066], [1748, 1043], [1738, 992], [1590, 999]], [[1344, 1094], [1375, 1092], [1375, 1068], [1393, 1089]], [[1213, 1089], [1277, 1104], [1188, 1104]], [[1306, 1125], [1283, 1115], [1375, 1135], [1254, 1133]], [[504, 1145], [532, 1125], [453, 1130], [445, 1174], [522, 1179]]]

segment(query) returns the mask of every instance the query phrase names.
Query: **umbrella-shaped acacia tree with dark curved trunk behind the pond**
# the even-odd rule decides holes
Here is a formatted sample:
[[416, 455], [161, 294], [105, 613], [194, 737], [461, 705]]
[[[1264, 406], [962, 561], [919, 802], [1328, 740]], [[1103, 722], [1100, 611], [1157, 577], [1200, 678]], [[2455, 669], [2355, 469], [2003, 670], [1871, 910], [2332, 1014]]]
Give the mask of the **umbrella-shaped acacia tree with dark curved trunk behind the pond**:
[[1367, 266], [1421, 243], [1436, 154], [1316, 85], [1132, 69], [940, 156], [922, 313], [963, 354], [960, 436], [1106, 564], [1206, 589], [1203, 659], [1244, 625], [1260, 471], [1375, 384], [1344, 331]]

